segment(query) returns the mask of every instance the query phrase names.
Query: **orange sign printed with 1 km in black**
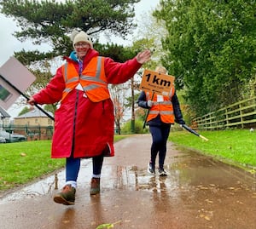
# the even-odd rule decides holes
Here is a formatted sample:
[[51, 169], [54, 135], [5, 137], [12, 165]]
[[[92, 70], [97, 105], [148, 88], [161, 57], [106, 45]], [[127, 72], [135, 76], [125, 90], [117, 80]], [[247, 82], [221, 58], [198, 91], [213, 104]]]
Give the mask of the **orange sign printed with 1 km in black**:
[[168, 95], [174, 88], [175, 77], [160, 72], [145, 70], [143, 73], [141, 90], [151, 91], [155, 94]]

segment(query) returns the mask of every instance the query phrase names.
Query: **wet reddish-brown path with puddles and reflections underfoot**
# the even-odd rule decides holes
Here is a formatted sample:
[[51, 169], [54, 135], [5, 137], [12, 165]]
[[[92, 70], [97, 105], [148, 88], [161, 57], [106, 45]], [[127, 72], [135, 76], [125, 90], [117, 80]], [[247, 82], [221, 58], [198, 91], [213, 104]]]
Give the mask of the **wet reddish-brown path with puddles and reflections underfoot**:
[[150, 135], [117, 142], [115, 157], [105, 158], [101, 194], [95, 197], [89, 194], [91, 160], [84, 159], [75, 205], [52, 200], [64, 185], [63, 170], [57, 182], [50, 175], [2, 195], [0, 228], [256, 228], [255, 174], [168, 142], [168, 176], [149, 175], [150, 144]]

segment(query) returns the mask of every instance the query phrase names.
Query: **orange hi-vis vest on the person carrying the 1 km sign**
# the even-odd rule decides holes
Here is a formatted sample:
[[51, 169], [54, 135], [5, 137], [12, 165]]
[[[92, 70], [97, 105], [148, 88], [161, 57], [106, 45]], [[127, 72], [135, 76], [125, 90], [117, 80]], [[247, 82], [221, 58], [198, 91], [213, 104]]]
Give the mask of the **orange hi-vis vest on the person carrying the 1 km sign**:
[[152, 100], [153, 105], [151, 106], [147, 122], [157, 117], [160, 114], [160, 119], [163, 123], [174, 123], [174, 113], [173, 113], [173, 106], [172, 106], [172, 96], [174, 94], [175, 89], [172, 88], [169, 96], [163, 96], [162, 101], [157, 101], [157, 94], [152, 94], [152, 92], [146, 92], [147, 100]]

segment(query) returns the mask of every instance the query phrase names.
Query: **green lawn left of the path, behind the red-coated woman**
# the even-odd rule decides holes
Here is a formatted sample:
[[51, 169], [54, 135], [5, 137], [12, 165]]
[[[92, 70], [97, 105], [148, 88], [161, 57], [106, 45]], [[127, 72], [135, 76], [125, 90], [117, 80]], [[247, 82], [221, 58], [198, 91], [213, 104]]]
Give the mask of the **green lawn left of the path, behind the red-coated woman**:
[[[118, 141], [128, 135], [116, 135]], [[0, 192], [49, 175], [65, 165], [65, 159], [50, 158], [51, 140], [0, 144]]]

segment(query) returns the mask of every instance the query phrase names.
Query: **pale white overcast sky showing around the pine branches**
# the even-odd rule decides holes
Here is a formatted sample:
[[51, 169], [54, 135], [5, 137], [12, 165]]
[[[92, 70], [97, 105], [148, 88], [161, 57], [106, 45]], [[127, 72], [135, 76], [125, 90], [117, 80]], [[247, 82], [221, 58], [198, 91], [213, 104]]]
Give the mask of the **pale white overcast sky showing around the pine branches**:
[[[135, 14], [136, 14], [136, 23], [140, 26], [140, 22], [143, 20], [143, 14], [148, 14], [149, 11], [152, 11], [158, 4], [160, 0], [141, 0], [140, 3], [135, 4]], [[47, 43], [38, 46], [33, 46], [32, 42], [26, 41], [24, 43], [20, 43], [14, 36], [13, 33], [18, 31], [19, 28], [16, 26], [16, 23], [13, 19], [7, 18], [4, 14], [0, 14], [0, 27], [1, 27], [1, 36], [0, 36], [0, 44], [1, 44], [1, 52], [0, 52], [0, 66], [9, 60], [14, 52], [20, 51], [21, 49], [25, 50], [47, 50], [49, 49], [49, 45]], [[133, 36], [136, 35], [136, 32]], [[104, 43], [104, 37], [100, 37], [100, 41]], [[107, 41], [106, 41], [107, 42]], [[111, 41], [113, 43], [119, 43], [123, 45], [128, 45], [132, 43], [132, 36], [127, 37], [127, 39], [123, 40], [121, 38], [111, 37]], [[22, 110], [22, 106], [11, 106], [7, 112], [11, 117], [16, 117], [18, 113]]]

